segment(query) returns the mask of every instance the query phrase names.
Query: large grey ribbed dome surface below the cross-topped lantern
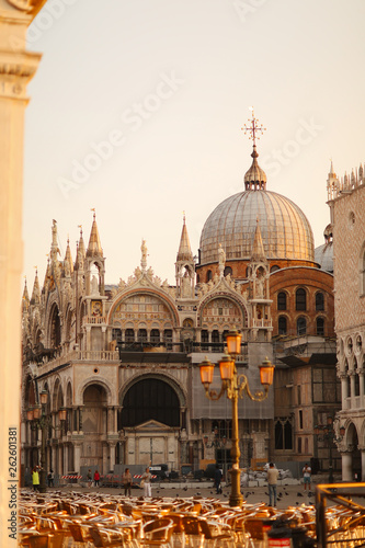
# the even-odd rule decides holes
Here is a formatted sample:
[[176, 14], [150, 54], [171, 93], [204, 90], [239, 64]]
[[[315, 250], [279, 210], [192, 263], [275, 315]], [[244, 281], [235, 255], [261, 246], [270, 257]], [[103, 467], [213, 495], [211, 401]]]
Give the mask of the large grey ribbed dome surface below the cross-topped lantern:
[[256, 219], [269, 261], [315, 261], [313, 235], [305, 214], [290, 199], [261, 185], [230, 196], [209, 215], [201, 236], [199, 264], [218, 261], [219, 243], [227, 261], [250, 260]]

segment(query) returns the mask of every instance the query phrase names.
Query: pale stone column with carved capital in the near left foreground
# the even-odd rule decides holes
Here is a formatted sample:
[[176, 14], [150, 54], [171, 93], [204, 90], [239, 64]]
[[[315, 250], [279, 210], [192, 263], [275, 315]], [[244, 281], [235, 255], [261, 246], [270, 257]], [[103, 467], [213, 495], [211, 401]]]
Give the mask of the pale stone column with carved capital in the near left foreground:
[[[26, 50], [26, 31], [45, 0], [0, 0], [0, 523], [11, 517], [9, 482], [20, 481], [21, 273], [23, 265], [23, 142], [26, 85], [41, 55]], [[14, 439], [10, 439], [13, 437]], [[9, 443], [16, 444], [16, 478], [9, 476]], [[16, 525], [15, 525], [16, 527]], [[16, 535], [1, 527], [0, 545], [16, 546]]]

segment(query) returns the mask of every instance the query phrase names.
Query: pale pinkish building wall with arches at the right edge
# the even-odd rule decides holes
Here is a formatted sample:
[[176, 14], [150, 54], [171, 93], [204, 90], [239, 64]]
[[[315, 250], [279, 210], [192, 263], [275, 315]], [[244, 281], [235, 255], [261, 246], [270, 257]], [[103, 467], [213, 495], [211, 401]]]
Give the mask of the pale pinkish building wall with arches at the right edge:
[[[341, 182], [333, 178], [329, 205], [333, 222], [335, 331], [342, 411], [338, 446], [342, 478], [365, 479], [365, 186], [363, 168]], [[333, 190], [334, 189], [334, 190]], [[339, 427], [344, 429], [340, 435]]]

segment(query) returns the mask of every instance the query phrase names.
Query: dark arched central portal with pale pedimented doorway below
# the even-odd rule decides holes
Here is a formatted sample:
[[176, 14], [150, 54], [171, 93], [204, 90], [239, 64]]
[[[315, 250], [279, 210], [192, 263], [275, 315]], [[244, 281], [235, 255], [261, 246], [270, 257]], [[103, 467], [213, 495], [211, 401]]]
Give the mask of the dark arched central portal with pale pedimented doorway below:
[[176, 391], [159, 378], [144, 378], [125, 393], [118, 430], [125, 434], [128, 465], [180, 464], [181, 404]]

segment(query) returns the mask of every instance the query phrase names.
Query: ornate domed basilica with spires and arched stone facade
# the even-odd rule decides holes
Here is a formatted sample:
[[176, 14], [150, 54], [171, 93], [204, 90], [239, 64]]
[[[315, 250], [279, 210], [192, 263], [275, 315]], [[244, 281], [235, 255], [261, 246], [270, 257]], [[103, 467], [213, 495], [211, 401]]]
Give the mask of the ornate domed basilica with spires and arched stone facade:
[[260, 389], [263, 359], [276, 366], [265, 401], [239, 401], [241, 466], [300, 464], [313, 455], [324, 463], [313, 426], [340, 406], [333, 274], [315, 258], [301, 209], [266, 190], [255, 144], [251, 156], [244, 190], [205, 222], [197, 263], [184, 218], [173, 286], [148, 264], [146, 241], [128, 279], [107, 285], [95, 215], [75, 260], [69, 244], [59, 258], [54, 220], [45, 279], [36, 275], [22, 299], [25, 470], [39, 459], [39, 434], [26, 412], [42, 391], [46, 466], [57, 473], [90, 466], [106, 473], [117, 464], [180, 471], [215, 460], [228, 468], [230, 401], [205, 397], [199, 364], [205, 356], [217, 363], [233, 328], [242, 333], [238, 374], [251, 391]]

